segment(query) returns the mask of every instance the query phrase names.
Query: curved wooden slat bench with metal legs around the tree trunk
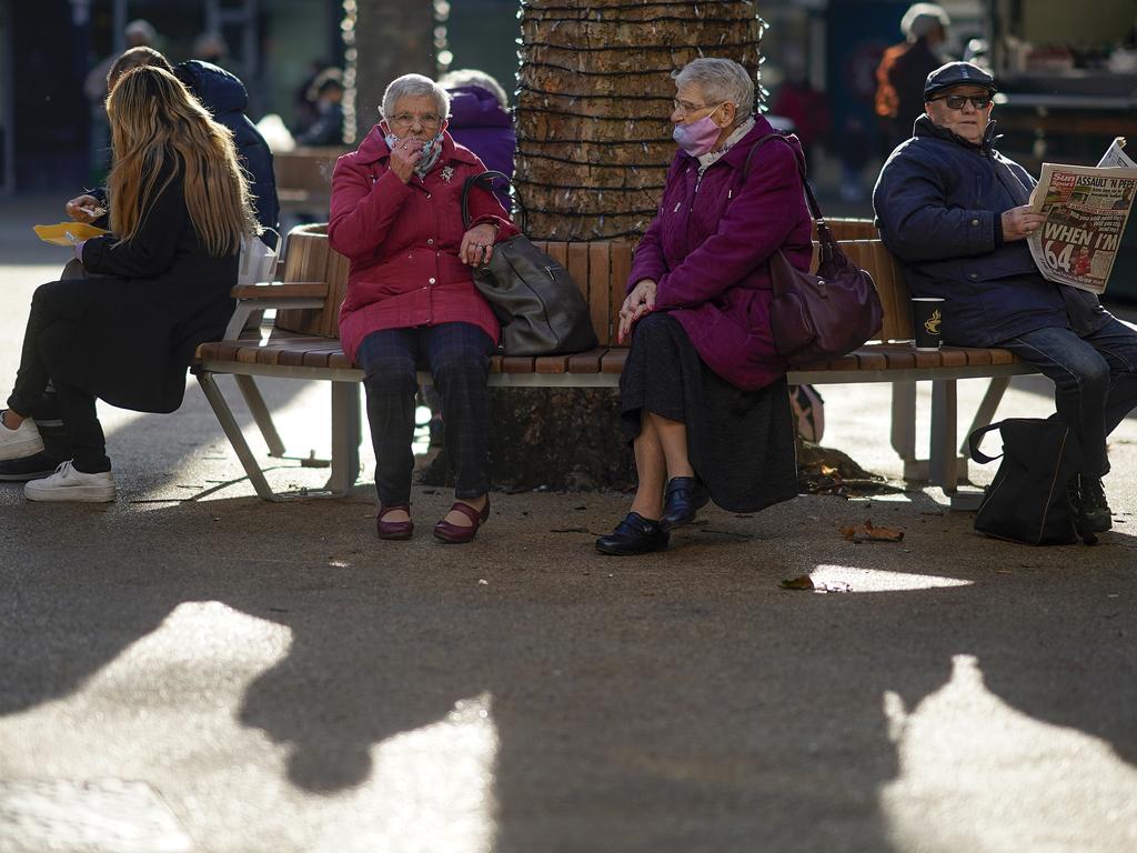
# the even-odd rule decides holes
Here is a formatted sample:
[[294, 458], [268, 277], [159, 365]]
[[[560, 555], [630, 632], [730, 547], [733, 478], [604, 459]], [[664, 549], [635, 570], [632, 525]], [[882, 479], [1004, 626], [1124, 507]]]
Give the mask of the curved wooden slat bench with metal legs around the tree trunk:
[[[869, 270], [885, 307], [880, 339], [841, 358], [791, 371], [791, 383], [833, 384], [889, 382], [893, 386], [891, 445], [904, 461], [904, 477], [928, 480], [954, 496], [966, 477], [957, 450], [956, 382], [988, 378], [991, 383], [973, 419], [972, 429], [989, 423], [1010, 376], [1036, 371], [1002, 349], [944, 347], [918, 353], [911, 345], [910, 295], [899, 263], [879, 239], [841, 240], [855, 263]], [[490, 386], [512, 388], [615, 388], [628, 353], [615, 343], [624, 282], [631, 270], [632, 246], [626, 242], [539, 243], [559, 260], [588, 300], [600, 346], [562, 356], [495, 356]], [[327, 245], [323, 225], [293, 229], [284, 259], [283, 282], [234, 290], [240, 300], [226, 340], [198, 348], [193, 372], [233, 445], [257, 494], [277, 499], [256, 456], [249, 449], [214, 376], [231, 374], [246, 399], [271, 456], [284, 446], [271, 413], [257, 390], [256, 376], [316, 379], [332, 388], [332, 474], [327, 490], [347, 494], [359, 473], [362, 439], [358, 384], [363, 373], [343, 355], [337, 336], [337, 315], [347, 282], [348, 263]], [[272, 326], [241, 331], [249, 310], [276, 308]], [[430, 381], [428, 374], [421, 379]], [[916, 458], [916, 382], [931, 381], [930, 454]]]

